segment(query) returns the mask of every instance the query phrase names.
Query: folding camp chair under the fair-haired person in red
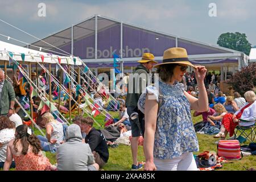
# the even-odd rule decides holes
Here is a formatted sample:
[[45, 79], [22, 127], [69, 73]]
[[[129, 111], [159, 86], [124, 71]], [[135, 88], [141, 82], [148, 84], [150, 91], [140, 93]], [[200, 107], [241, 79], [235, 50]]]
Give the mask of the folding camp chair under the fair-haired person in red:
[[[240, 123], [249, 123], [249, 126], [241, 126]], [[244, 119], [240, 119], [238, 126], [236, 127], [236, 132], [234, 134], [234, 139], [242, 139], [242, 142], [245, 142], [247, 139], [250, 140], [250, 142], [253, 142], [254, 140], [256, 140], [256, 135], [255, 135], [255, 131], [256, 131], [256, 123], [255, 122], [251, 122], [251, 121], [246, 121]], [[237, 137], [237, 133], [238, 131], [240, 132], [240, 135]]]

